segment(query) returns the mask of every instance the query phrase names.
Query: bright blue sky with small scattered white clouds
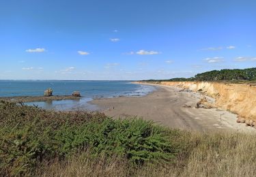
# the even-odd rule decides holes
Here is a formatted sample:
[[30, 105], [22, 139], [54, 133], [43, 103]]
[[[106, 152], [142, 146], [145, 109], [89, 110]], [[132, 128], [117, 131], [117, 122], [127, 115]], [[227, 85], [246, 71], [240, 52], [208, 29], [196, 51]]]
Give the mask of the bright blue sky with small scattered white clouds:
[[143, 80], [256, 67], [255, 0], [0, 0], [0, 80]]

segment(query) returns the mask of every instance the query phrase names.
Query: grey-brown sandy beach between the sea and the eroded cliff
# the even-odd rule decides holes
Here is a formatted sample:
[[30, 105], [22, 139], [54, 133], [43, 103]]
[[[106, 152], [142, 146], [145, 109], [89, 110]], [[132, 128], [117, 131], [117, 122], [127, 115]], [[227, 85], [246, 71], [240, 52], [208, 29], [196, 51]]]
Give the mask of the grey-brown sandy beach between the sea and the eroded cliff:
[[197, 109], [200, 93], [182, 91], [173, 86], [157, 86], [158, 90], [144, 97], [94, 99], [101, 112], [114, 118], [138, 116], [161, 125], [196, 131], [240, 131], [255, 129], [236, 123], [237, 115], [214, 109]]

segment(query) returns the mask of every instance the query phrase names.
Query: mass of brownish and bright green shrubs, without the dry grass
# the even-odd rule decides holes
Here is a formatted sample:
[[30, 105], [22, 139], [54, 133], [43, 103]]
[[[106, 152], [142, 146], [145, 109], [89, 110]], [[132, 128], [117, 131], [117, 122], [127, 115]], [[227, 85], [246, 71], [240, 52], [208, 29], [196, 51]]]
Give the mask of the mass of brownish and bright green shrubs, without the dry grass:
[[117, 155], [134, 165], [167, 163], [177, 152], [165, 129], [142, 119], [113, 120], [99, 113], [5, 102], [0, 112], [1, 174], [33, 174], [42, 161], [65, 160], [86, 148], [91, 156]]

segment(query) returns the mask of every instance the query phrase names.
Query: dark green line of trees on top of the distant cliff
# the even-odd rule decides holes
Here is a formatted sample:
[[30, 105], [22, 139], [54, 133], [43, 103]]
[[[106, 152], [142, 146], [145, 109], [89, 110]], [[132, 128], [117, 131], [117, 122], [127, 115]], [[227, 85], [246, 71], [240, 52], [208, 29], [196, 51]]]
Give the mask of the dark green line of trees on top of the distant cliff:
[[161, 81], [255, 81], [256, 68], [248, 69], [221, 69], [197, 74], [193, 78], [173, 78], [169, 80], [142, 80], [147, 82], [161, 82]]

